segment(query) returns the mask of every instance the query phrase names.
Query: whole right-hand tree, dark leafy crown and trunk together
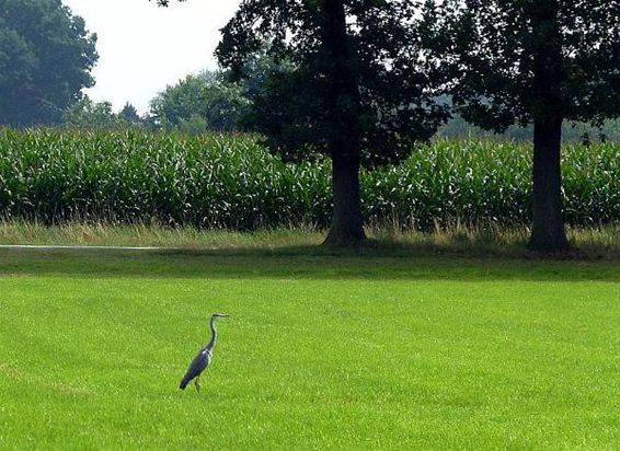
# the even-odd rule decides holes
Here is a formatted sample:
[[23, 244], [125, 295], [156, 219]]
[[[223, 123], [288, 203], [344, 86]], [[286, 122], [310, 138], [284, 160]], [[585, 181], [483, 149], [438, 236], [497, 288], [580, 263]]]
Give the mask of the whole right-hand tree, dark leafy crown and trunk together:
[[562, 125], [620, 115], [620, 1], [429, 0], [424, 15], [457, 112], [497, 131], [533, 125], [529, 246], [566, 250]]

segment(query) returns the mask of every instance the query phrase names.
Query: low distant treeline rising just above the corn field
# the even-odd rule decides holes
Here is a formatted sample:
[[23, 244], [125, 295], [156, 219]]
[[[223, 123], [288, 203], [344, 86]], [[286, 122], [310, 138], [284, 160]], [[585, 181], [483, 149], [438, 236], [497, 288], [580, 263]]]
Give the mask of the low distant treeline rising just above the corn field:
[[[262, 89], [264, 72], [269, 61], [259, 60], [252, 77], [230, 82], [222, 71], [204, 70], [168, 86], [156, 95], [149, 112], [138, 115], [127, 103], [118, 113], [110, 102], [94, 102], [88, 96], [70, 107], [62, 117], [61, 126], [88, 130], [123, 130], [127, 128], [148, 131], [180, 131], [187, 135], [221, 131], [248, 131], [245, 118], [251, 112], [251, 97]], [[449, 103], [441, 97], [439, 103]], [[531, 141], [533, 127], [510, 126], [496, 134], [466, 122], [455, 114], [439, 127], [436, 137], [450, 139], [491, 139], [495, 141]], [[583, 123], [565, 122], [562, 129], [564, 142], [620, 141], [620, 119], [607, 120], [600, 127]]]

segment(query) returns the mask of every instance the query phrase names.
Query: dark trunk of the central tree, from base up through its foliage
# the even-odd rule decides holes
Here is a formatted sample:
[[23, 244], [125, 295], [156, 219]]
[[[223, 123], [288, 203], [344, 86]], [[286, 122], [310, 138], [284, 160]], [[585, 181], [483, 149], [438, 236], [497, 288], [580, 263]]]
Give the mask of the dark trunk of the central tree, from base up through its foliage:
[[322, 0], [321, 62], [326, 76], [323, 102], [329, 124], [334, 210], [324, 242], [332, 247], [357, 245], [366, 239], [359, 196], [361, 130], [359, 90], [348, 43], [343, 0]]

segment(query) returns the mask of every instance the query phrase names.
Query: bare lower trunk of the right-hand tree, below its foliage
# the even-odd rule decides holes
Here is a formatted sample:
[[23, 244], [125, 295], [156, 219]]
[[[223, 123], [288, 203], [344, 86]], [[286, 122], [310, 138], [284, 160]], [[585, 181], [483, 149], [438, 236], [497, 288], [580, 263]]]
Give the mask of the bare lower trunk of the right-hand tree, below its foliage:
[[569, 248], [562, 222], [562, 119], [539, 119], [533, 127], [533, 224], [528, 247], [562, 252]]

